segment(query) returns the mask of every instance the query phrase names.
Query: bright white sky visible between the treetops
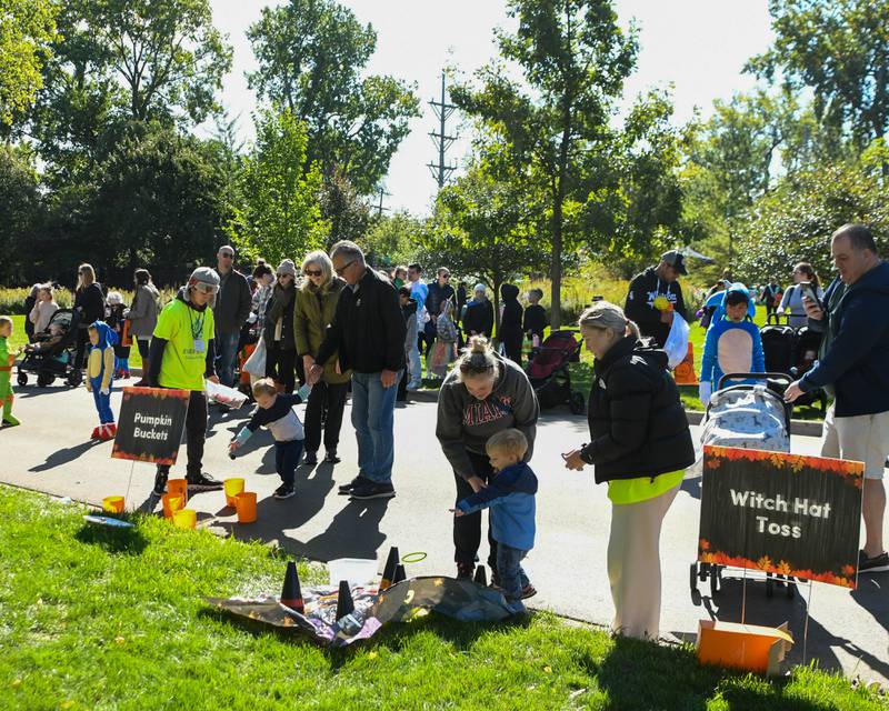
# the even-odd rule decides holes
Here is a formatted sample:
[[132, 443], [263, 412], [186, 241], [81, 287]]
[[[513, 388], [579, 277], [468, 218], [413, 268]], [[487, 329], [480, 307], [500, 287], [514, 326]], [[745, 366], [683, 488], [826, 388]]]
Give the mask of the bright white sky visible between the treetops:
[[[427, 102], [440, 92], [444, 64], [471, 72], [496, 54], [492, 30], [507, 26], [503, 0], [341, 0], [378, 33], [377, 53], [368, 70], [417, 83], [422, 117], [411, 122], [411, 134], [392, 159], [386, 179], [386, 207], [423, 214], [437, 186], [426, 163], [437, 158], [429, 138], [436, 119]], [[240, 114], [242, 138], [252, 138], [251, 111], [256, 97], [244, 72], [256, 68], [244, 32], [267, 4], [258, 0], [210, 0], [213, 21], [229, 34], [234, 63], [221, 94], [231, 116]], [[616, 0], [621, 24], [632, 18], [640, 28], [636, 73], [626, 84], [625, 99], [648, 87], [673, 84], [675, 119], [688, 121], [699, 107], [709, 116], [713, 99], [728, 99], [753, 86], [741, 73], [747, 59], [765, 51], [772, 38], [766, 0]], [[455, 129], [457, 128], [453, 121]], [[462, 133], [468, 138], [468, 129]], [[449, 157], [462, 162], [466, 138]]]

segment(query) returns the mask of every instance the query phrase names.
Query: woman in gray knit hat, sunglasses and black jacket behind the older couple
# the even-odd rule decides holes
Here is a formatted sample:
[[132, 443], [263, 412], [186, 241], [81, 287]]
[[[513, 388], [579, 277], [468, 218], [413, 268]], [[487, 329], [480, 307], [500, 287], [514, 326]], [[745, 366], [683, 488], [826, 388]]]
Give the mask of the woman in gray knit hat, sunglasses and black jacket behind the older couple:
[[266, 308], [262, 338], [266, 341], [266, 377], [290, 394], [297, 382], [297, 342], [293, 337], [293, 306], [297, 293], [297, 268], [290, 259], [278, 264], [278, 283]]

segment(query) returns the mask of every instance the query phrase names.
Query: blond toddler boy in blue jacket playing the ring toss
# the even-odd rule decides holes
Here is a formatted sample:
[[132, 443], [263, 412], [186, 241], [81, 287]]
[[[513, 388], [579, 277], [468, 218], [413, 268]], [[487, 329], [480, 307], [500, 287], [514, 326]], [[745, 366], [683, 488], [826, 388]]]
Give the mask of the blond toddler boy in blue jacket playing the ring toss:
[[521, 560], [535, 545], [537, 477], [522, 461], [528, 440], [519, 430], [493, 434], [485, 447], [497, 472], [488, 485], [457, 502], [455, 515], [491, 508], [491, 531], [497, 541], [497, 577], [510, 609], [525, 613], [522, 590], [529, 584]]

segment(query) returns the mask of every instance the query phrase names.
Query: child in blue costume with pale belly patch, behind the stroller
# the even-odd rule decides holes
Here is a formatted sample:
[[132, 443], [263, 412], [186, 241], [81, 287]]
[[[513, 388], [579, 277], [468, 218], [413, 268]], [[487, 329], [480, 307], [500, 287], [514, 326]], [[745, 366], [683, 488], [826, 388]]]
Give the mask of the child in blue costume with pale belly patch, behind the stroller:
[[725, 292], [703, 342], [699, 394], [707, 407], [723, 373], [766, 372], [762, 339], [753, 323], [756, 304], [742, 283]]

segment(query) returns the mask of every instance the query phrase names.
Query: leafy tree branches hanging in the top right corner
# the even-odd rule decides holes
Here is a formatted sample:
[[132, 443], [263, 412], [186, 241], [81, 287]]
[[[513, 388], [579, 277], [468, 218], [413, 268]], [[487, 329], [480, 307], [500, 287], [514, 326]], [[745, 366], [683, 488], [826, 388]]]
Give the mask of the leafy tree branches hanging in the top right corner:
[[747, 70], [809, 88], [819, 122], [863, 150], [889, 128], [889, 1], [770, 0], [773, 46]]

